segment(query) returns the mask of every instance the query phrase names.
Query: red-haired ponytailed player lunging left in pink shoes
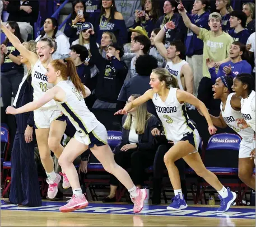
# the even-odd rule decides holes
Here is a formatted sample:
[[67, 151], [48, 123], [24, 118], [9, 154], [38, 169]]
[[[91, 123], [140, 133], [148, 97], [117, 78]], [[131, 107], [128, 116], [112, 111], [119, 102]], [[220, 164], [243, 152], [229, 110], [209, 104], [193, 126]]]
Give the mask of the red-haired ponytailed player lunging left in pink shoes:
[[55, 100], [62, 112], [76, 127], [77, 132], [74, 138], [68, 142], [59, 158], [59, 164], [66, 173], [73, 190], [73, 197], [68, 204], [60, 207], [60, 211], [71, 212], [83, 209], [88, 205], [88, 201], [82, 193], [73, 160], [90, 148], [95, 157], [103, 164], [105, 170], [114, 174], [128, 189], [134, 203], [133, 211], [140, 212], [143, 208], [143, 202], [147, 198], [147, 191], [136, 188], [129, 174], [115, 163], [113, 153], [107, 142], [108, 133], [104, 125], [88, 110], [83, 100], [91, 92], [83, 86], [73, 61], [71, 59], [53, 60], [47, 67], [46, 75], [49, 83], [55, 85], [53, 88], [49, 89], [38, 100], [21, 108], [7, 107], [7, 113], [18, 114], [36, 110], [45, 103]]

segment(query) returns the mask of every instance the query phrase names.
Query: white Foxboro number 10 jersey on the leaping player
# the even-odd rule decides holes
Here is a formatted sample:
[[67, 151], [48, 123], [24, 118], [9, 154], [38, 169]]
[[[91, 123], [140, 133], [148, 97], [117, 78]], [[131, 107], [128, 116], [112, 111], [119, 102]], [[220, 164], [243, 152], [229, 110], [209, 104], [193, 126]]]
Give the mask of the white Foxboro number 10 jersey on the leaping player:
[[[43, 64], [38, 60], [32, 69], [32, 87], [34, 88], [33, 97], [34, 101], [39, 100], [45, 92], [53, 87], [53, 84], [48, 83], [48, 79], [46, 77], [47, 70], [43, 67]], [[56, 108], [57, 104], [54, 100], [46, 103], [44, 106], [40, 108]]]

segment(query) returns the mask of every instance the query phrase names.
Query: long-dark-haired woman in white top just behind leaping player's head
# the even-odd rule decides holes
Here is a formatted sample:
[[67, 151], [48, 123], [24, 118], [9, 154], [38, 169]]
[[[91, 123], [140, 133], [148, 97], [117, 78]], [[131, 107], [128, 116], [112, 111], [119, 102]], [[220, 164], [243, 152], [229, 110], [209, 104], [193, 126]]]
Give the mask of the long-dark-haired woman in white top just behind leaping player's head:
[[35, 41], [39, 41], [43, 37], [50, 37], [57, 42], [58, 48], [52, 55], [53, 59], [64, 59], [68, 57], [70, 44], [67, 36], [62, 31], [58, 31], [58, 21], [54, 17], [46, 18], [44, 21], [44, 30], [41, 31]]

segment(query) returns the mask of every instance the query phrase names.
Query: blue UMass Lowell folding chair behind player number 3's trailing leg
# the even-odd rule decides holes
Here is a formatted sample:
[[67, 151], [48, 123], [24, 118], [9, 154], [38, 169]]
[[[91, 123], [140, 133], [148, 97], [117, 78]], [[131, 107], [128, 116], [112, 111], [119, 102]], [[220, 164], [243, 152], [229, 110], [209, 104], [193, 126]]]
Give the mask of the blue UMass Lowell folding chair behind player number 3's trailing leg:
[[[241, 138], [237, 134], [221, 133], [211, 136], [208, 140], [206, 149], [204, 150], [204, 165], [206, 168], [216, 174], [218, 178], [222, 178], [222, 185], [230, 188], [237, 187], [240, 193], [240, 180], [238, 178], [238, 154]], [[224, 155], [225, 154], [225, 155]], [[227, 157], [229, 157], [227, 159]], [[202, 180], [202, 178], [201, 178]], [[198, 183], [197, 200], [206, 201], [205, 190], [210, 186], [207, 182], [201, 181]], [[238, 197], [236, 198], [238, 204]]]

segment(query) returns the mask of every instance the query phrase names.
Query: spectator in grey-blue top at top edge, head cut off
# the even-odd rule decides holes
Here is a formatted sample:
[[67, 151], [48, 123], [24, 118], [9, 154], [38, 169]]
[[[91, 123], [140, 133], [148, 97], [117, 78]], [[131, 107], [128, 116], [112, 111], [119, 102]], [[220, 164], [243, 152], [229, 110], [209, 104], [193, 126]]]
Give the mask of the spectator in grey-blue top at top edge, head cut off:
[[141, 2], [131, 2], [131, 0], [123, 0], [117, 1], [115, 6], [117, 7], [117, 11], [122, 13], [127, 29], [132, 27], [135, 20], [134, 12], [136, 12], [136, 10], [141, 10]]

